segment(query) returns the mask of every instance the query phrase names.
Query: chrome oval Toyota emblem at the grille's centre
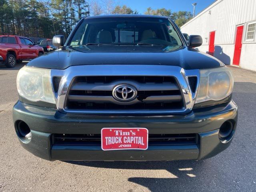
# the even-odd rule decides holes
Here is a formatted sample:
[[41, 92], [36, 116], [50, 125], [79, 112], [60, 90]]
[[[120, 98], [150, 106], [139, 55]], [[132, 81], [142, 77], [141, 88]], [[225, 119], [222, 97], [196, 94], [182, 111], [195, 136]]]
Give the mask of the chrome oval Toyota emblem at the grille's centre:
[[129, 102], [136, 98], [136, 88], [130, 85], [118, 85], [113, 89], [113, 97], [122, 102]]

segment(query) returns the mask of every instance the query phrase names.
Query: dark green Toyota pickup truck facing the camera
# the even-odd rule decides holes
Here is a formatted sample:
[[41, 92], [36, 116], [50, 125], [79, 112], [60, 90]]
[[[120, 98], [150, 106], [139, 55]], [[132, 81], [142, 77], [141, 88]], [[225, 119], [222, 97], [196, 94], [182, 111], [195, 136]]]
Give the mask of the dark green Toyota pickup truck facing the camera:
[[22, 146], [46, 160], [202, 160], [231, 143], [233, 76], [167, 17], [82, 18], [18, 72]]

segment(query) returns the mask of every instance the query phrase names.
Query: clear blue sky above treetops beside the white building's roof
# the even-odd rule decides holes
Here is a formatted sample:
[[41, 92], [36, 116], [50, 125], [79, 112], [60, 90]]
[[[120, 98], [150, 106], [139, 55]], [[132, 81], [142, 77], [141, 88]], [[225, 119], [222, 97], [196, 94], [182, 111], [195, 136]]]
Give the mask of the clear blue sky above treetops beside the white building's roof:
[[140, 14], [144, 14], [148, 7], [153, 9], [166, 8], [172, 10], [172, 12], [193, 12], [192, 3], [197, 3], [196, 14], [198, 14], [214, 1], [215, 0], [117, 0], [117, 3], [127, 5], [132, 8], [132, 10], [137, 10]]

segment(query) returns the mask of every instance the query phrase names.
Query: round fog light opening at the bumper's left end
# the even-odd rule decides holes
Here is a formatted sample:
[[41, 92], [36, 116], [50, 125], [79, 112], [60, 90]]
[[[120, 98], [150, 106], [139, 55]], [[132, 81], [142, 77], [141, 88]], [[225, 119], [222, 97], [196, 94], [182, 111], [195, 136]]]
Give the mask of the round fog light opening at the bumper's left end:
[[32, 134], [30, 128], [24, 121], [17, 121], [15, 128], [16, 133], [22, 142], [28, 143], [31, 140]]

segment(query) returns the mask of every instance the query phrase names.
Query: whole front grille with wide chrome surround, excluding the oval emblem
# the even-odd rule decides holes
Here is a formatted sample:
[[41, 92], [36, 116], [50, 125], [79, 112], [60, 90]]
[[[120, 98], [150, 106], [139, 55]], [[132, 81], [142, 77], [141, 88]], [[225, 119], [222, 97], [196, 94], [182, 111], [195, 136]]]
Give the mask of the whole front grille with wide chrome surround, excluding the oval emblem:
[[[163, 65], [79, 65], [52, 69], [58, 111], [70, 114], [186, 114], [194, 106], [200, 70]], [[59, 83], [60, 80], [60, 83]], [[113, 86], [131, 84], [132, 102], [118, 102]]]

